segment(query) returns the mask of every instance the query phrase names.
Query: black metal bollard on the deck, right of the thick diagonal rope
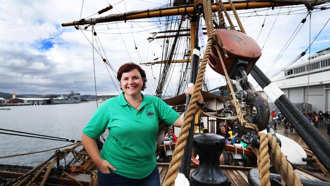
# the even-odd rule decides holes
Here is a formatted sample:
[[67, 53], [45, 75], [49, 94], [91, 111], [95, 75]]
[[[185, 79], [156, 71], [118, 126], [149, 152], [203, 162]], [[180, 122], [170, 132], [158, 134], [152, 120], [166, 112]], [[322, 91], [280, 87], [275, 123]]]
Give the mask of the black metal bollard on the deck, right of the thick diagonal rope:
[[225, 139], [220, 135], [206, 133], [193, 137], [193, 146], [198, 151], [200, 165], [190, 175], [192, 185], [228, 185], [228, 178], [219, 167], [219, 157], [225, 145]]

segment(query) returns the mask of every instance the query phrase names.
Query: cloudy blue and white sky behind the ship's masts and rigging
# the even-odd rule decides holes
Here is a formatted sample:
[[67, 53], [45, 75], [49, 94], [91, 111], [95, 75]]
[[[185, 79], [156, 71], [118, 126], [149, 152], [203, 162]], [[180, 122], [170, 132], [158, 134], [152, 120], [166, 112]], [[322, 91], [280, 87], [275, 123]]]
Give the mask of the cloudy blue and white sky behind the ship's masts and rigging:
[[[102, 15], [97, 11], [113, 5], [113, 9]], [[118, 95], [119, 84], [115, 71], [123, 64], [133, 61], [145, 63], [161, 59], [163, 40], [149, 42], [152, 32], [166, 29], [166, 17], [121, 21], [95, 25], [97, 37], [92, 37], [92, 26], [77, 30], [73, 26], [62, 27], [61, 23], [80, 18], [106, 16], [133, 10], [146, 10], [165, 6], [167, 1], [5, 1], [0, 0], [0, 92], [17, 94], [68, 94], [71, 90], [82, 95]], [[323, 5], [329, 8], [329, 4]], [[319, 6], [320, 7], [320, 6]], [[95, 14], [96, 15], [93, 15]], [[330, 18], [330, 10], [313, 10], [310, 16], [304, 6], [238, 11], [247, 35], [257, 41], [262, 55], [256, 65], [269, 77], [305, 51], [311, 40], [319, 34]], [[232, 13], [231, 13], [232, 14]], [[92, 16], [91, 16], [92, 15]], [[268, 16], [265, 16], [268, 15]], [[307, 16], [304, 24], [301, 20]], [[172, 17], [176, 18], [176, 17]], [[237, 25], [236, 22], [234, 22]], [[310, 24], [311, 23], [311, 24]], [[184, 22], [187, 24], [187, 21]], [[261, 29], [261, 25], [264, 25]], [[302, 25], [301, 29], [299, 26]], [[311, 32], [310, 32], [311, 25]], [[205, 26], [205, 25], [204, 25]], [[299, 32], [294, 32], [298, 27]], [[81, 26], [84, 28], [84, 26]], [[286, 48], [290, 36], [296, 36]], [[157, 35], [158, 36], [158, 35]], [[205, 37], [205, 42], [207, 41]], [[93, 49], [90, 43], [94, 43]], [[165, 44], [166, 45], [166, 44]], [[182, 41], [183, 53], [187, 44]], [[136, 49], [137, 47], [137, 49]], [[330, 23], [311, 46], [311, 55], [330, 47]], [[281, 50], [286, 48], [283, 54]], [[97, 51], [96, 51], [97, 50]], [[97, 52], [101, 51], [101, 55]], [[100, 53], [100, 52], [99, 52]], [[307, 59], [307, 54], [302, 59]], [[113, 67], [104, 64], [103, 58]], [[301, 63], [302, 59], [296, 61]], [[93, 65], [95, 64], [95, 65]], [[95, 67], [95, 81], [94, 81]], [[107, 68], [108, 67], [108, 68]], [[174, 68], [179, 65], [175, 65]], [[144, 94], [154, 94], [160, 65], [143, 66], [148, 76]], [[170, 77], [165, 95], [172, 95], [178, 79], [179, 69]], [[283, 76], [280, 73], [274, 80]], [[223, 85], [224, 78], [207, 68], [209, 88]], [[256, 85], [251, 76], [249, 80]]]

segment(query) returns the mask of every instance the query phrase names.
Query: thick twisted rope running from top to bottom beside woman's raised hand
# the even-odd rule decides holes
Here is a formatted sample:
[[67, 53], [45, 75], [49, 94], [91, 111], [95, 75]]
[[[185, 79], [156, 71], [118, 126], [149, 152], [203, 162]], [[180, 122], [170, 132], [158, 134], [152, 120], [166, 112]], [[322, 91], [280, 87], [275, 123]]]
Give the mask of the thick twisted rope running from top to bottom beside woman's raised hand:
[[173, 159], [170, 163], [169, 170], [166, 174], [165, 178], [165, 186], [174, 185], [175, 179], [178, 175], [178, 170], [181, 165], [181, 158], [183, 156], [184, 152], [184, 146], [186, 144], [186, 138], [189, 133], [190, 129], [190, 122], [193, 119], [193, 114], [195, 112], [196, 108], [196, 102], [197, 102], [197, 96], [199, 95], [199, 92], [202, 90], [202, 83], [203, 83], [203, 77], [205, 68], [207, 65], [208, 58], [210, 56], [210, 51], [212, 47], [212, 43], [214, 40], [214, 29], [213, 29], [213, 18], [212, 18], [212, 8], [211, 8], [211, 2], [210, 1], [203, 1], [204, 11], [205, 11], [205, 17], [206, 17], [206, 27], [207, 27], [207, 33], [208, 33], [208, 43], [206, 46], [205, 54], [202, 60], [201, 67], [199, 69], [199, 72], [197, 74], [197, 80], [195, 83], [195, 88], [191, 97], [191, 100], [188, 105], [187, 113], [184, 117], [183, 126], [181, 127], [181, 132], [179, 134], [180, 138], [178, 139], [177, 144], [175, 145], [175, 150], [173, 152]]

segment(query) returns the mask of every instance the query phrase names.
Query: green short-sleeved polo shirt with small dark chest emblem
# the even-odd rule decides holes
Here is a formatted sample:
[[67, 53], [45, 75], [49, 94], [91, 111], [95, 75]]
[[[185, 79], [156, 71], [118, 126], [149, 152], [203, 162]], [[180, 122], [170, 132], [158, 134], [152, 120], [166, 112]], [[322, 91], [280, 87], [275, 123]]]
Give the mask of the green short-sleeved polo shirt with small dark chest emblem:
[[158, 121], [173, 125], [180, 116], [161, 99], [142, 97], [139, 111], [127, 103], [124, 92], [105, 101], [83, 129], [94, 139], [108, 129], [101, 158], [117, 169], [114, 173], [131, 179], [145, 178], [156, 167]]

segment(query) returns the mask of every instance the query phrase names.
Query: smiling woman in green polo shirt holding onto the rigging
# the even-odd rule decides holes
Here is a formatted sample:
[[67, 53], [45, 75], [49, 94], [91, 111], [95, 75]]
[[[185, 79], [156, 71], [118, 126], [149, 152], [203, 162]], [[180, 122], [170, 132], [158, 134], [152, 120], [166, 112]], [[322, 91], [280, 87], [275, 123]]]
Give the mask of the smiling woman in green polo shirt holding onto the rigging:
[[[144, 96], [146, 74], [134, 63], [122, 65], [117, 79], [123, 92], [104, 102], [83, 129], [82, 142], [97, 166], [98, 185], [160, 185], [156, 166], [158, 120], [181, 127], [180, 116], [161, 99]], [[193, 87], [187, 88], [191, 94]], [[203, 103], [200, 94], [197, 103]], [[96, 138], [109, 130], [101, 154]]]

